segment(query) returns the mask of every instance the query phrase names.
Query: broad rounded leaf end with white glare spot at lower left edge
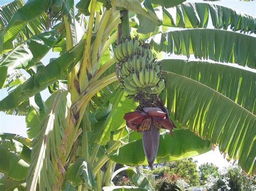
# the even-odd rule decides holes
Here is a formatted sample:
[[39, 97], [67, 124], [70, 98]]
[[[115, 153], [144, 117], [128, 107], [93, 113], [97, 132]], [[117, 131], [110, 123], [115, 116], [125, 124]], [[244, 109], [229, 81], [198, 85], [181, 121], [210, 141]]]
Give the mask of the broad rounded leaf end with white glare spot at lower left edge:
[[0, 172], [12, 180], [24, 180], [29, 164], [5, 146], [0, 145], [0, 153]]

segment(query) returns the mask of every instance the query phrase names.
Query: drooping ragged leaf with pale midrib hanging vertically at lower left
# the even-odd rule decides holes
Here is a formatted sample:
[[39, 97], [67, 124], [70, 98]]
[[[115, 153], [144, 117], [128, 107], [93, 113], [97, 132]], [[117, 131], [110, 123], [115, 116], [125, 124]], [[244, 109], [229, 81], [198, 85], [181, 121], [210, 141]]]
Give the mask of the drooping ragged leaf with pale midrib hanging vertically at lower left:
[[[57, 186], [58, 176], [63, 169], [59, 164], [59, 150], [65, 147], [62, 138], [66, 137], [68, 109], [71, 106], [68, 91], [58, 90], [45, 102], [49, 108], [42, 123], [41, 132], [34, 139], [31, 165], [26, 176], [29, 190], [52, 190]], [[64, 138], [65, 139], [65, 138]], [[56, 187], [57, 189], [57, 187]]]

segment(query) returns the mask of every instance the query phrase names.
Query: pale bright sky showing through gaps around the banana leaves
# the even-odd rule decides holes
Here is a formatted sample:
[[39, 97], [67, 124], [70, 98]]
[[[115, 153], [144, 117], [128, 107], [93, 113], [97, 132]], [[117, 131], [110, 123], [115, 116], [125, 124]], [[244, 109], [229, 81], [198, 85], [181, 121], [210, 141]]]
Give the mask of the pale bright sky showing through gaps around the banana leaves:
[[[0, 0], [0, 5], [11, 2], [10, 0]], [[187, 2], [202, 2], [202, 1], [187, 1]], [[211, 4], [223, 5], [228, 8], [232, 8], [241, 12], [246, 13], [256, 17], [256, 2], [240, 2], [240, 1], [218, 1], [218, 2], [208, 2]], [[209, 22], [210, 23], [210, 22]], [[45, 55], [42, 62], [46, 65], [49, 63], [50, 58], [57, 58], [58, 53], [50, 52]], [[164, 55], [164, 58], [174, 58], [176, 56]], [[177, 58], [177, 57], [176, 57]], [[179, 57], [180, 58], [180, 57]], [[185, 58], [185, 57], [184, 57]], [[254, 71], [255, 72], [255, 71]], [[6, 89], [0, 90], [0, 100], [2, 100], [7, 94]], [[44, 90], [42, 93], [43, 100], [46, 100], [50, 94], [48, 91]], [[16, 133], [18, 135], [26, 136], [26, 124], [24, 116], [11, 116], [5, 115], [4, 112], [0, 112], [0, 132]], [[214, 165], [218, 166], [220, 169], [232, 165], [231, 162], [227, 162], [223, 155], [220, 154], [218, 147], [214, 151], [207, 152], [205, 154], [193, 157], [194, 160], [198, 161], [198, 166], [204, 164], [205, 162], [212, 162]]]

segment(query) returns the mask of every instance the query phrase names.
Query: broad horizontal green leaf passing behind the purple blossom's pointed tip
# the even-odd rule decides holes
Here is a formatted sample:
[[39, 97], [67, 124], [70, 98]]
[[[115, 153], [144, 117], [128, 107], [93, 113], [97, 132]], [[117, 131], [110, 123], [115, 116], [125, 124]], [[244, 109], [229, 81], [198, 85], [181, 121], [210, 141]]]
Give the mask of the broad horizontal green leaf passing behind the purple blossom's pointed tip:
[[[108, 157], [120, 164], [147, 165], [142, 138], [133, 139], [135, 140], [129, 140], [129, 143], [120, 147], [119, 151], [111, 152]], [[161, 133], [158, 153], [154, 162], [180, 160], [203, 154], [210, 150], [210, 141], [201, 139], [189, 130], [177, 129], [173, 131], [173, 137], [169, 132]]]

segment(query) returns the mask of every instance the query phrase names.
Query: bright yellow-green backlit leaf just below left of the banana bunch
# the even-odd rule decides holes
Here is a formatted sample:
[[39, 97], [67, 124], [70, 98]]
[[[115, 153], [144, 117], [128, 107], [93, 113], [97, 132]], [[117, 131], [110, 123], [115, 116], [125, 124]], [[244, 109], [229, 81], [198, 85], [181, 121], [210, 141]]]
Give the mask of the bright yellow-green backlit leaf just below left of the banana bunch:
[[[110, 132], [123, 128], [125, 120], [123, 116], [126, 112], [133, 111], [136, 108], [136, 103], [127, 97], [124, 90], [118, 88], [111, 96], [109, 103], [112, 105], [112, 110], [106, 117], [102, 125], [102, 131], [98, 139], [98, 144], [106, 145], [110, 140]], [[98, 126], [98, 125], [96, 125]], [[99, 127], [98, 127], [99, 128]]]

